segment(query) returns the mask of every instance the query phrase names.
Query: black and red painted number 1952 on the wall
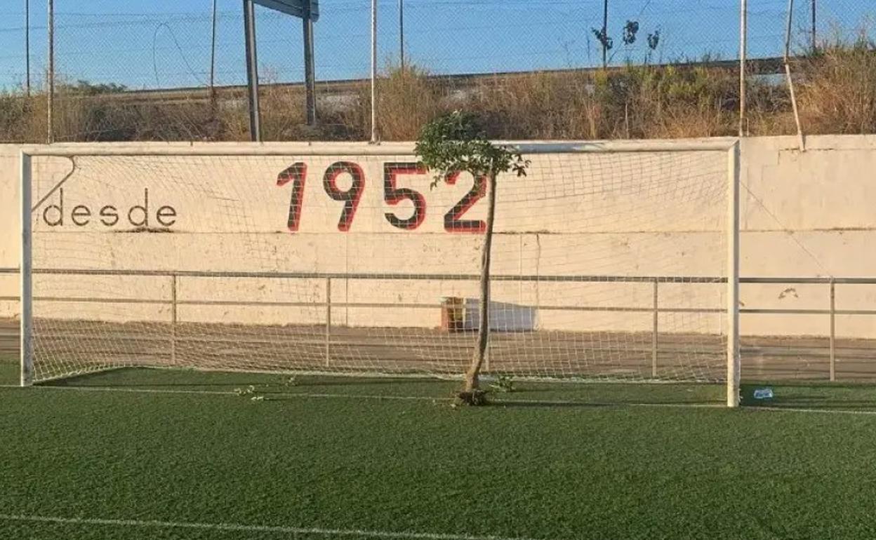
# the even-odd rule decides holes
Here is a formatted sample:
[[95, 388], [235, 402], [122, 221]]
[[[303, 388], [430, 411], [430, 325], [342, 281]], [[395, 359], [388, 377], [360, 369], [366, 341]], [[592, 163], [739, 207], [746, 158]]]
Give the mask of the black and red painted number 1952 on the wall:
[[[338, 187], [337, 179], [348, 175], [352, 180], [346, 190]], [[383, 166], [383, 199], [391, 207], [400, 202], [410, 200], [413, 203], [413, 214], [410, 217], [385, 213], [386, 221], [395, 228], [414, 230], [426, 219], [426, 198], [422, 193], [410, 187], [399, 187], [399, 176], [427, 174], [425, 168], [418, 163], [392, 162]], [[459, 173], [449, 175], [445, 182], [456, 185]], [[301, 223], [301, 211], [304, 206], [304, 187], [307, 184], [307, 164], [298, 162], [290, 165], [277, 177], [277, 186], [292, 184], [292, 196], [289, 200], [289, 219], [286, 223], [292, 232], [298, 231]], [[450, 233], [483, 233], [486, 223], [483, 220], [463, 220], [463, 214], [474, 207], [478, 200], [486, 195], [487, 183], [472, 181], [471, 189], [454, 207], [444, 214], [444, 229]], [[356, 217], [359, 201], [365, 189], [365, 173], [362, 167], [351, 161], [338, 161], [329, 166], [322, 176], [322, 187], [332, 200], [343, 202], [341, 218], [337, 223], [338, 230], [349, 231]]]

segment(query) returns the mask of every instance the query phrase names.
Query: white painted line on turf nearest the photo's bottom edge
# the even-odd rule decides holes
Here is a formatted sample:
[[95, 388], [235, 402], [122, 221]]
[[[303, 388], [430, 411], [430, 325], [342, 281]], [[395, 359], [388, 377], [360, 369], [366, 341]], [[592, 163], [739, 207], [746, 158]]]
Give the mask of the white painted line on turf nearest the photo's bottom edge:
[[0, 514], [0, 521], [59, 523], [66, 525], [107, 525], [115, 527], [142, 527], [153, 529], [201, 529], [237, 532], [261, 532], [283, 535], [315, 535], [336, 537], [384, 538], [385, 540], [533, 540], [525, 537], [475, 536], [431, 532], [393, 532], [366, 529], [321, 529], [318, 527], [283, 527], [273, 525], [244, 525], [239, 523], [162, 522], [158, 520], [101, 519], [85, 517], [55, 517], [49, 515]]

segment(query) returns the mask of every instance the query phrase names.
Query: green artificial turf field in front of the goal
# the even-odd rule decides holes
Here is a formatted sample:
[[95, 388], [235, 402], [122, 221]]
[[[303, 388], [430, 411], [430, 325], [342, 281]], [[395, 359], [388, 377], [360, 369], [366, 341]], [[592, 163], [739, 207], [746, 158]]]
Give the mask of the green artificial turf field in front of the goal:
[[544, 383], [453, 408], [455, 387], [131, 369], [0, 388], [0, 538], [876, 537], [872, 387], [774, 386], [776, 410]]

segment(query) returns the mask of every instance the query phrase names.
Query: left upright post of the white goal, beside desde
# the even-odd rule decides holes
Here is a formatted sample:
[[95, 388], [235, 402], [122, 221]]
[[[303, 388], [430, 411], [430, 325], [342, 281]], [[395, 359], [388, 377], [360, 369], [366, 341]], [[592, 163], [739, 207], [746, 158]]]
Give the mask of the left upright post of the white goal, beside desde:
[[31, 157], [21, 153], [21, 386], [33, 384], [33, 274]]

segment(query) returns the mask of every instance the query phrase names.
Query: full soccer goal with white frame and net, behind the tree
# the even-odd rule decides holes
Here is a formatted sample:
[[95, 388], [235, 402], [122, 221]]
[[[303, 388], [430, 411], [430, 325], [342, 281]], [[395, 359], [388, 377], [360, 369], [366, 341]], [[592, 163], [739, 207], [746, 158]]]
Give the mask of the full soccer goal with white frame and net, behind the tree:
[[[738, 144], [519, 144], [485, 373], [726, 383]], [[485, 183], [411, 144], [49, 146], [21, 156], [21, 382], [113, 368], [461, 375]]]

